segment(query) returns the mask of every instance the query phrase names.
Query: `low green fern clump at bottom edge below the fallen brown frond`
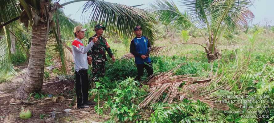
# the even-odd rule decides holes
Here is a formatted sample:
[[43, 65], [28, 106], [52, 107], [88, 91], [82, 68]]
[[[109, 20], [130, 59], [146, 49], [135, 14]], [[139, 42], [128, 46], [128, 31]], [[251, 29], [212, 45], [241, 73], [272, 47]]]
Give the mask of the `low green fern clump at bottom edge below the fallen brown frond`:
[[[167, 107], [166, 107], [167, 106]], [[183, 100], [179, 104], [154, 104], [151, 123], [228, 123], [222, 111], [208, 108], [200, 102]]]

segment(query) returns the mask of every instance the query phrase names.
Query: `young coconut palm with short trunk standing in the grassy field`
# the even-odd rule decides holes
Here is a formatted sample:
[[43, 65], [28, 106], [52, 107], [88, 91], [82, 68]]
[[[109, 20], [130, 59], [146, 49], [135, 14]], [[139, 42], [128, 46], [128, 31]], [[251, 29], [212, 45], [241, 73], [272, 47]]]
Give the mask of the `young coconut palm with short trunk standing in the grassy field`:
[[[207, 42], [205, 51], [208, 62], [221, 55], [216, 44], [224, 29], [240, 29], [254, 17], [248, 10], [252, 5], [251, 0], [179, 0], [179, 3], [186, 8], [191, 18], [181, 13], [174, 2], [167, 0], [150, 4], [150, 11], [156, 15], [157, 21], [201, 34]], [[207, 34], [202, 33], [203, 28], [207, 29]]]

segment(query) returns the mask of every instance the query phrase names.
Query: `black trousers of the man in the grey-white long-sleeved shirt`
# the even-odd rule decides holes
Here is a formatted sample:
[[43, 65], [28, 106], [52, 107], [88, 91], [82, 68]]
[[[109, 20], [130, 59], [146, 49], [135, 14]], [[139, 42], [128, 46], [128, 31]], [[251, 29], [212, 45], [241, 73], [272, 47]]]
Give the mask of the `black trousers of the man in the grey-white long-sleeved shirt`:
[[75, 71], [77, 107], [88, 101], [88, 70]]

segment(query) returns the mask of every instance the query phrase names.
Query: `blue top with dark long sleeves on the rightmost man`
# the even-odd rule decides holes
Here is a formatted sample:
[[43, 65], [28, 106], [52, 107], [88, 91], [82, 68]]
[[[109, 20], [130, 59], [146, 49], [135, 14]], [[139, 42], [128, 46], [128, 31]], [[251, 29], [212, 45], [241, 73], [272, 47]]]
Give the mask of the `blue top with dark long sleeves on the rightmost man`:
[[[136, 64], [150, 63], [149, 52], [151, 50], [151, 44], [147, 37], [135, 37], [130, 43], [130, 53], [135, 57]], [[145, 59], [141, 58], [141, 55], [148, 56]]]

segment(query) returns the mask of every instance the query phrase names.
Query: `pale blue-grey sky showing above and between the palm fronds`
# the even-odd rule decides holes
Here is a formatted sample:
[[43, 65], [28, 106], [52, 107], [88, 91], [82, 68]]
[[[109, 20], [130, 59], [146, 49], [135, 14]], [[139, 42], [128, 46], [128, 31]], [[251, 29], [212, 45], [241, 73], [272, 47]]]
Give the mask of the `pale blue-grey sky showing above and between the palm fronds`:
[[[60, 0], [60, 4], [64, 2], [68, 2], [71, 0]], [[155, 0], [104, 0], [107, 2], [112, 3], [119, 3], [124, 4], [128, 6], [134, 6], [134, 5], [140, 5], [145, 4], [143, 6], [138, 6], [138, 8], [146, 8], [148, 7], [149, 3], [154, 2]], [[181, 7], [178, 3], [179, 0], [173, 0], [174, 3], [177, 5], [177, 7], [180, 9], [180, 11], [184, 11], [185, 8]], [[67, 6], [64, 6], [64, 12], [67, 16], [70, 18], [78, 21], [78, 22], [85, 22], [85, 20], [88, 20], [88, 15], [81, 16], [82, 9], [81, 8], [86, 2], [76, 2], [72, 4], [68, 4]], [[271, 21], [270, 25], [274, 25], [274, 0], [255, 0], [254, 6], [249, 7], [249, 9], [253, 12], [255, 15], [255, 18], [253, 20], [253, 24], [260, 24], [265, 25], [265, 18], [268, 18], [268, 20]]]

